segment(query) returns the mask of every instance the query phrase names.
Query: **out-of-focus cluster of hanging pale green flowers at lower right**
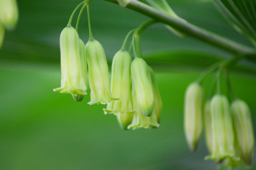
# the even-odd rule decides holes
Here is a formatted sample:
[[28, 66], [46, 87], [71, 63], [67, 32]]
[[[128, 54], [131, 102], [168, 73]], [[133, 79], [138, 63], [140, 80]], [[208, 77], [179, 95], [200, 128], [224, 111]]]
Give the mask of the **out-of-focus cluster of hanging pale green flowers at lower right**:
[[224, 167], [250, 166], [254, 152], [253, 125], [248, 105], [235, 99], [230, 106], [226, 96], [216, 94], [204, 102], [204, 89], [193, 82], [186, 90], [184, 125], [189, 147], [194, 151], [205, 127], [210, 156]]

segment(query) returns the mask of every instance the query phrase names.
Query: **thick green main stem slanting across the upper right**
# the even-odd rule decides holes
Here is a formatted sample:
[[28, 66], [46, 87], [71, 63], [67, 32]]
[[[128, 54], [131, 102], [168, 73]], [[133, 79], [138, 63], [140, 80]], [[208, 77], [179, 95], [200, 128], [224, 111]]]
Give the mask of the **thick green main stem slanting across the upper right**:
[[[117, 3], [116, 0], [106, 0], [112, 3]], [[208, 44], [214, 45], [218, 48], [221, 48], [225, 51], [228, 51], [233, 54], [241, 53], [256, 53], [256, 49], [244, 46], [240, 43], [234, 42], [227, 38], [221, 37], [218, 34], [214, 34], [210, 31], [204, 30], [198, 26], [194, 26], [191, 23], [188, 23], [180, 18], [172, 17], [165, 12], [161, 12], [151, 6], [141, 3], [137, 0], [131, 0], [130, 3], [126, 6], [134, 11], [137, 11], [141, 14], [147, 15], [148, 17], [153, 18], [161, 23], [165, 23], [172, 28], [175, 28], [186, 34], [187, 36], [194, 37], [198, 40], [206, 42]]]

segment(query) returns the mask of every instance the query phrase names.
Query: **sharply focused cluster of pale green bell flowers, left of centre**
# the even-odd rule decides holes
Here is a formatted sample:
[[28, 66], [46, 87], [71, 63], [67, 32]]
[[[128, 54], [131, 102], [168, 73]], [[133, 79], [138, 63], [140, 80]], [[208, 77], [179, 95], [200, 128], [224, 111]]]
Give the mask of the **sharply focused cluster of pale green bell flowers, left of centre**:
[[[90, 24], [89, 24], [90, 31]], [[113, 113], [123, 129], [159, 127], [162, 101], [154, 71], [139, 57], [132, 61], [121, 48], [112, 62], [111, 82], [102, 45], [90, 39], [86, 45], [72, 26], [60, 36], [61, 87], [54, 91], [70, 93], [76, 101], [87, 94], [87, 65], [90, 85], [88, 104], [108, 104], [104, 113]]]

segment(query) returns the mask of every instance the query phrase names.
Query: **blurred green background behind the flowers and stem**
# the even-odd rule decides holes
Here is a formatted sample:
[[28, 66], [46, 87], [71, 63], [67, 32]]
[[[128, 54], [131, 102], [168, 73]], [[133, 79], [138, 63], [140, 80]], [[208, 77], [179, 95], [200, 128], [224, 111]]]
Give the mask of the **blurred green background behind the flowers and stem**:
[[[0, 170], [215, 170], [214, 162], [204, 161], [204, 132], [198, 150], [189, 151], [183, 98], [205, 68], [232, 56], [204, 42], [176, 37], [162, 24], [148, 28], [141, 46], [157, 75], [161, 125], [124, 131], [116, 116], [104, 115], [104, 105], [87, 105], [90, 95], [75, 102], [70, 94], [52, 91], [61, 82], [59, 36], [80, 2], [17, 0], [19, 22], [15, 31], [6, 31], [0, 50]], [[252, 46], [211, 1], [168, 2], [190, 23]], [[109, 68], [127, 32], [148, 19], [104, 0], [93, 0], [90, 14], [93, 37], [104, 47]], [[79, 36], [87, 42], [86, 12]], [[256, 64], [239, 62], [230, 76], [236, 95], [250, 106], [256, 127]], [[204, 83], [207, 92], [212, 78]], [[256, 159], [251, 169], [256, 169]]]

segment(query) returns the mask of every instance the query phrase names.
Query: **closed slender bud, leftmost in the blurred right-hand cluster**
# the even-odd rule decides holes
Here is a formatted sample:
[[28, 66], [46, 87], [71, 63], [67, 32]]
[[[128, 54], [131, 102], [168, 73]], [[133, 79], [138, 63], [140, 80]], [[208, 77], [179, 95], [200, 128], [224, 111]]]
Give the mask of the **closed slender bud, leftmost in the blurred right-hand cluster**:
[[187, 143], [192, 151], [196, 150], [202, 132], [202, 112], [204, 89], [198, 82], [193, 82], [186, 89], [184, 108], [184, 128]]

